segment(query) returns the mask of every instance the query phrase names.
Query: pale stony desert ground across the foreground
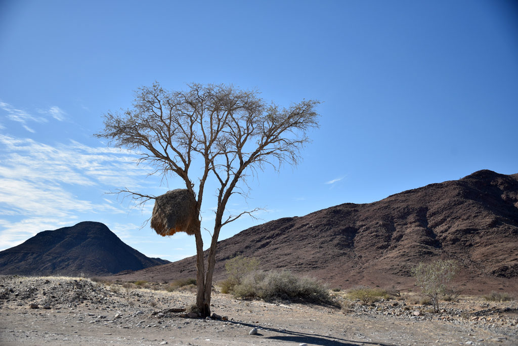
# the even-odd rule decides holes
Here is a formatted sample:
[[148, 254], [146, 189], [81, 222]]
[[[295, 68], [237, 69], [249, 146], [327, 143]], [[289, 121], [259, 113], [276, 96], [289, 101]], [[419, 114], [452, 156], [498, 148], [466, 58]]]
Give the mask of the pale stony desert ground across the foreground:
[[0, 344], [518, 344], [515, 300], [461, 296], [430, 313], [411, 293], [363, 305], [333, 292], [337, 306], [319, 306], [237, 300], [215, 287], [211, 310], [219, 316], [200, 319], [174, 310], [189, 311], [195, 300], [190, 290], [125, 286], [86, 278], [0, 277]]

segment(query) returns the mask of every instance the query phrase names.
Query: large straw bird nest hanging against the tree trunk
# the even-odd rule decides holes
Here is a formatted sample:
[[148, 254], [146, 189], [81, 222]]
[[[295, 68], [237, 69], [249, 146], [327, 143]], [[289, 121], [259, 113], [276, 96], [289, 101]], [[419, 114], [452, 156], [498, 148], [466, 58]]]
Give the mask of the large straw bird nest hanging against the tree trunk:
[[168, 191], [156, 197], [151, 228], [161, 236], [172, 236], [177, 232], [193, 235], [199, 230], [196, 218], [196, 199], [186, 189]]

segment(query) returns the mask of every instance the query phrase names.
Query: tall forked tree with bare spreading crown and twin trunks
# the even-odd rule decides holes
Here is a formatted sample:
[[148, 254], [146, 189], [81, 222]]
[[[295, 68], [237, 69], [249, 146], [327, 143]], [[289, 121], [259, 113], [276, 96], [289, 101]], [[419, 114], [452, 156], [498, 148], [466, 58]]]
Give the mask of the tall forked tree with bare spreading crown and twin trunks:
[[[247, 194], [247, 177], [267, 165], [297, 164], [307, 132], [318, 127], [314, 100], [287, 108], [267, 104], [257, 91], [232, 85], [190, 84], [186, 91], [167, 91], [155, 82], [136, 91], [133, 108], [108, 112], [104, 130], [96, 134], [111, 145], [139, 152], [138, 162], [155, 168], [154, 174], [183, 179], [196, 199], [196, 218], [202, 210], [209, 176], [218, 182], [215, 221], [207, 267], [200, 229], [195, 231], [197, 297], [203, 316], [210, 314], [212, 274], [221, 228], [254, 210], [225, 213], [234, 194]], [[201, 169], [197, 169], [201, 166]], [[154, 196], [120, 190], [145, 202]]]

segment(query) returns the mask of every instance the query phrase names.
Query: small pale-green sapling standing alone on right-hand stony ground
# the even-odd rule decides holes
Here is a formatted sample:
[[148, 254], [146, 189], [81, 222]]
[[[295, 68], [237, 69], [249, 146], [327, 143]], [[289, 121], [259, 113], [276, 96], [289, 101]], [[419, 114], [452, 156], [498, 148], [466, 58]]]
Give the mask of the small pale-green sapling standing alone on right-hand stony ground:
[[421, 287], [423, 298], [428, 298], [434, 312], [439, 311], [439, 299], [450, 292], [456, 292], [450, 287], [451, 280], [455, 277], [459, 266], [455, 261], [438, 261], [420, 263], [412, 269], [415, 284]]

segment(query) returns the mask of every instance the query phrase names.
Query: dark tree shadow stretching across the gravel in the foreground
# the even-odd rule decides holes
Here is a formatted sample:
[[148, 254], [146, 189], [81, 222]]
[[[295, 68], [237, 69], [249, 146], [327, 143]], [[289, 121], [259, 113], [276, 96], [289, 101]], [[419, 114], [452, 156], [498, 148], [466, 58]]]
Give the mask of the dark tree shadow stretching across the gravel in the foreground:
[[[233, 324], [239, 324], [242, 326], [248, 326], [251, 328], [260, 328], [265, 331], [272, 331], [274, 333], [279, 333], [282, 335], [274, 335], [274, 336], [267, 336], [264, 337], [264, 339], [269, 340], [278, 340], [278, 341], [291, 341], [291, 342], [298, 342], [300, 343], [306, 343], [308, 345], [322, 345], [322, 346], [357, 346], [357, 345], [380, 345], [380, 346], [390, 346], [390, 344], [386, 343], [379, 343], [379, 342], [373, 342], [373, 341], [352, 341], [342, 338], [337, 338], [333, 336], [325, 336], [325, 335], [319, 335], [319, 334], [307, 334], [307, 333], [300, 333], [298, 331], [292, 331], [287, 329], [276, 329], [276, 328], [268, 328], [268, 327], [262, 327], [250, 323], [244, 323], [244, 322], [237, 322], [237, 321], [229, 321]], [[257, 333], [257, 336], [264, 336], [263, 334]]]

